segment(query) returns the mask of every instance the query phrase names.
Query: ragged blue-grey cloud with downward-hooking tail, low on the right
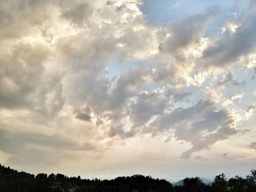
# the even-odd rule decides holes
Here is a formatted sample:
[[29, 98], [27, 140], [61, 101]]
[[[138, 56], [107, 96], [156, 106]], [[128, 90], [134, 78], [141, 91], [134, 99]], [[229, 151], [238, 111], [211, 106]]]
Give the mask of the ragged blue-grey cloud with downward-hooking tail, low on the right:
[[189, 158], [193, 152], [236, 134], [233, 122], [226, 110], [217, 110], [211, 101], [200, 100], [192, 107], [179, 107], [160, 116], [149, 127], [158, 132], [172, 129], [176, 139], [191, 143], [192, 148], [182, 154], [182, 158]]

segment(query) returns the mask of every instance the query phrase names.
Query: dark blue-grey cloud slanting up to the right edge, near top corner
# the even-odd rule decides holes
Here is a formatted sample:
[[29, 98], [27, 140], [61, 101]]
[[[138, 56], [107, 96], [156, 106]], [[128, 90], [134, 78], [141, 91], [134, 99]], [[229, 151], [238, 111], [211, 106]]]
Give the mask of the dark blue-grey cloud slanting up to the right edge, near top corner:
[[225, 31], [211, 46], [203, 52], [203, 62], [206, 66], [225, 66], [238, 61], [241, 56], [255, 51], [256, 41], [255, 4], [244, 9], [244, 12], [228, 22], [237, 25], [236, 32]]

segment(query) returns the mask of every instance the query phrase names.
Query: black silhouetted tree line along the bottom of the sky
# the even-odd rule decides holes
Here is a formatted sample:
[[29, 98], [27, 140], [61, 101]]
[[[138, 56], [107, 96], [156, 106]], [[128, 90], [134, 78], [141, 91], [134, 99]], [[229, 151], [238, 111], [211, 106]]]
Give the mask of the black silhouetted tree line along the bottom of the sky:
[[130, 177], [116, 177], [113, 180], [81, 179], [64, 174], [44, 174], [36, 176], [18, 172], [0, 164], [0, 192], [254, 192], [256, 191], [256, 169], [243, 177], [219, 174], [211, 185], [206, 185], [199, 177], [187, 177], [183, 184], [173, 186], [166, 180], [135, 174]]

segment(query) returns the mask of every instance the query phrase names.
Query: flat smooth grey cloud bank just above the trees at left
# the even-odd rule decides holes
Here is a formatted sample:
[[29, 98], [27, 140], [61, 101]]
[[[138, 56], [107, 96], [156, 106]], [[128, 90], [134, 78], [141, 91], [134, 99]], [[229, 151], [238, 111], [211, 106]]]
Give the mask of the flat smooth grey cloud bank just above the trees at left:
[[0, 150], [10, 154], [9, 164], [54, 165], [62, 160], [94, 158], [102, 149], [92, 142], [78, 143], [61, 134], [0, 129]]

